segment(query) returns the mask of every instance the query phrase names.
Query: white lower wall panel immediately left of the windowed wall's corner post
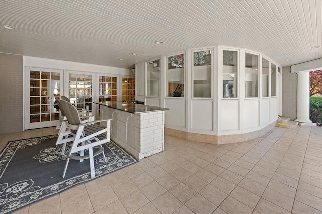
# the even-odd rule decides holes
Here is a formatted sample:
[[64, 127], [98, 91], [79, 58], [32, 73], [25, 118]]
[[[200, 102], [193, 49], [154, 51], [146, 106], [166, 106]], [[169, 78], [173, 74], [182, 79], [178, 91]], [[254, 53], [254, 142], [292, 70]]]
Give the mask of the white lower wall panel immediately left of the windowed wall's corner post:
[[191, 128], [212, 130], [213, 100], [191, 100]]

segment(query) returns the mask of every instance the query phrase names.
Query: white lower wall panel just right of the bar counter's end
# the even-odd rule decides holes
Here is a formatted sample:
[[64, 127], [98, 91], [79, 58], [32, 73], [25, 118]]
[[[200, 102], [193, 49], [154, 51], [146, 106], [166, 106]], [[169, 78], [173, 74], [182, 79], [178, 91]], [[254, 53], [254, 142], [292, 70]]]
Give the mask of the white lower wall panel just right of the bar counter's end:
[[165, 124], [185, 127], [186, 100], [184, 99], [165, 99]]

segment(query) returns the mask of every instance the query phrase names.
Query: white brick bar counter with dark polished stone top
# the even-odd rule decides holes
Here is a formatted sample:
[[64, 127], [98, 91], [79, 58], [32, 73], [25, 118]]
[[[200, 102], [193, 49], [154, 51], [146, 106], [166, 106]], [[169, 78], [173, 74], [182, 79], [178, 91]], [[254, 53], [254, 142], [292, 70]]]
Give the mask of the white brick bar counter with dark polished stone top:
[[142, 159], [165, 149], [164, 111], [149, 105], [126, 102], [94, 102], [100, 118], [112, 118], [111, 140]]

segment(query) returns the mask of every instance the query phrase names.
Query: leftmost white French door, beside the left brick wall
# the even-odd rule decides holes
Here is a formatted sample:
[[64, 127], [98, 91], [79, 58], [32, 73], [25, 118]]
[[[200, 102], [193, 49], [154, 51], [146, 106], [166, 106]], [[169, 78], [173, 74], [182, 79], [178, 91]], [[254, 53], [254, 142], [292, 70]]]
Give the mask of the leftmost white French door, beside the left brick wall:
[[55, 97], [63, 94], [63, 70], [25, 69], [25, 129], [56, 126], [59, 109]]

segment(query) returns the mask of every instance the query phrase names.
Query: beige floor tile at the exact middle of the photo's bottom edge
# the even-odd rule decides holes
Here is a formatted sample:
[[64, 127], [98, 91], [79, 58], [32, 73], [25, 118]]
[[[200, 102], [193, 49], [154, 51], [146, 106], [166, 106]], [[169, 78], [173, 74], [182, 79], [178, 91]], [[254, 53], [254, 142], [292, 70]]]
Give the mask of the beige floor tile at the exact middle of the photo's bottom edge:
[[169, 192], [158, 196], [152, 203], [161, 213], [173, 213], [182, 206], [182, 203]]

